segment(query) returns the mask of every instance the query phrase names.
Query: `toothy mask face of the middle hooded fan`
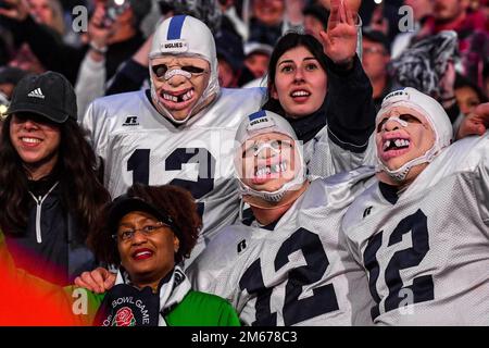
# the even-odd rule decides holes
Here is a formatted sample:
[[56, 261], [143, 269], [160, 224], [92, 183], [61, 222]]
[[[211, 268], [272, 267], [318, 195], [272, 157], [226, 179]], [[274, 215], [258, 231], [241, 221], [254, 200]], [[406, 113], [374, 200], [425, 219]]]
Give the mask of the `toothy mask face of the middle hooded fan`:
[[259, 191], [276, 191], [296, 175], [294, 141], [279, 133], [258, 135], [241, 146], [242, 183]]

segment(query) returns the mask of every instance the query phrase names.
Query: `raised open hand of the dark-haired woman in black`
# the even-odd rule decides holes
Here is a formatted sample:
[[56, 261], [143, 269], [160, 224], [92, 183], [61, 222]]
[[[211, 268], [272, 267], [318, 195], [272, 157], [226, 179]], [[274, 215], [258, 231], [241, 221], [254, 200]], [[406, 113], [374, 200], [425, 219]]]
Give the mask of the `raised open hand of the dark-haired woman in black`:
[[343, 0], [331, 0], [326, 32], [321, 32], [324, 52], [336, 64], [351, 65], [356, 51], [355, 16]]

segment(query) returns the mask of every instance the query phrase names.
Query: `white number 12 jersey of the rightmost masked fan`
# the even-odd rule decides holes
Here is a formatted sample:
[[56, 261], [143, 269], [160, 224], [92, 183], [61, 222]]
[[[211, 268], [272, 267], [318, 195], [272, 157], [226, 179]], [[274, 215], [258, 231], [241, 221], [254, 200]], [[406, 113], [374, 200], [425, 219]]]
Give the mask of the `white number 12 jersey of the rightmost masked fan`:
[[342, 231], [376, 324], [489, 325], [489, 135], [444, 149], [399, 197], [375, 183]]

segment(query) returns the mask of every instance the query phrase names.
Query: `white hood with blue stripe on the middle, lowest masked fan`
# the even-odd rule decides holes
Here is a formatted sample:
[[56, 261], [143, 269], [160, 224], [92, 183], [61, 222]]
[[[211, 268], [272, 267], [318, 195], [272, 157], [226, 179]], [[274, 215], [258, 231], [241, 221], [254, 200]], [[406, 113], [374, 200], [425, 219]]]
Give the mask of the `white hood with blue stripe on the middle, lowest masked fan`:
[[[242, 145], [252, 137], [255, 137], [260, 134], [267, 133], [280, 133], [288, 137], [290, 137], [294, 141], [294, 151], [296, 151], [296, 173], [291, 181], [285, 183], [279, 189], [275, 191], [265, 191], [265, 190], [255, 190], [244, 184], [242, 178], [240, 177], [240, 172], [242, 169]], [[235, 175], [238, 178], [238, 189], [241, 196], [252, 196], [256, 198], [261, 198], [267, 202], [279, 202], [287, 191], [297, 190], [302, 187], [302, 184], [305, 182], [305, 163], [302, 154], [302, 146], [299, 144], [299, 140], [296, 136], [290, 124], [276, 113], [271, 111], [261, 110], [259, 112], [252, 113], [248, 115], [239, 125], [238, 130], [235, 137], [236, 144], [236, 156], [235, 156]], [[261, 152], [269, 149], [274, 153], [279, 153], [280, 150], [275, 149], [271, 144], [263, 142], [261, 144], [256, 150], [254, 150], [254, 156], [259, 156]], [[256, 175], [263, 173], [279, 173], [287, 171], [287, 163], [278, 163], [276, 165], [263, 166], [262, 169], [256, 170]], [[263, 174], [262, 173], [262, 174]]]

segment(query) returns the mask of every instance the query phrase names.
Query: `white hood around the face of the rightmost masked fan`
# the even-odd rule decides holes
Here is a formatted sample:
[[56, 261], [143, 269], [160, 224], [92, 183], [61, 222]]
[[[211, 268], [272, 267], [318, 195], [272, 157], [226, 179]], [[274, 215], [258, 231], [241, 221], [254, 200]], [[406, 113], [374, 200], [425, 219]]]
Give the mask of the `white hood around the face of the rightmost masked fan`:
[[[411, 87], [390, 92], [386, 98], [384, 98], [383, 105], [377, 113], [376, 124], [378, 124], [380, 117], [389, 113], [394, 107], [406, 107], [416, 110], [426, 117], [435, 133], [435, 141], [430, 149], [428, 149], [424, 154], [408, 161], [394, 171], [388, 169], [377, 153], [378, 171], [385, 172], [396, 182], [402, 182], [405, 179], [408, 173], [413, 166], [431, 162], [441, 149], [449, 146], [452, 141], [453, 130], [450, 119], [440, 103], [434, 98]], [[400, 120], [397, 116], [391, 116], [389, 120], [398, 122], [401, 127], [408, 126], [408, 122]], [[378, 152], [377, 147], [376, 151]]]

